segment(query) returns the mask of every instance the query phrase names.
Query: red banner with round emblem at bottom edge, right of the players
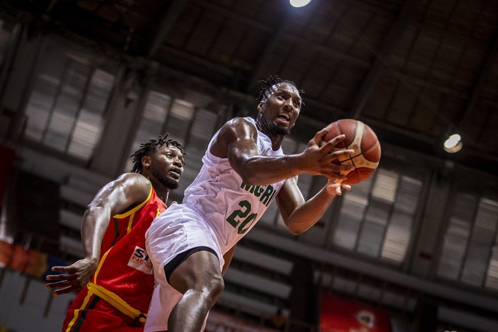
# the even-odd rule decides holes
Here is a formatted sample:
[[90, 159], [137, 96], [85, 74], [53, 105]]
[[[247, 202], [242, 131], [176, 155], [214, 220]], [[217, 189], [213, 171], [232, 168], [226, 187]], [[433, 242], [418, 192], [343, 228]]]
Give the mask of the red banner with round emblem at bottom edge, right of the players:
[[391, 332], [384, 310], [322, 294], [320, 332]]

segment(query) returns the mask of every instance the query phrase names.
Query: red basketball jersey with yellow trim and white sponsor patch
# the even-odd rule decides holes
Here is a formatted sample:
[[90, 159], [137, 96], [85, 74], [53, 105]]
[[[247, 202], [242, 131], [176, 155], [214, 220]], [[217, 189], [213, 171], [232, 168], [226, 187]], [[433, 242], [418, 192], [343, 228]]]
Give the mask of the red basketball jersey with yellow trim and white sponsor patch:
[[145, 251], [145, 231], [165, 210], [151, 185], [144, 202], [112, 217], [102, 241], [99, 266], [90, 280], [144, 313], [154, 288], [152, 264]]

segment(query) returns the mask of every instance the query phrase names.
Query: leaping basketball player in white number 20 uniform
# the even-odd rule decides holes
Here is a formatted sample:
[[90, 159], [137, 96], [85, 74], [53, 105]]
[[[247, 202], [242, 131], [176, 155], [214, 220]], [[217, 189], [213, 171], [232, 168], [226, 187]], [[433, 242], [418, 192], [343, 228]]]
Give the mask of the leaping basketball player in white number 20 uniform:
[[[352, 166], [331, 163], [352, 150], [329, 153], [344, 136], [324, 142], [316, 133], [302, 153], [284, 155], [281, 143], [301, 111], [293, 82], [260, 81], [257, 116], [234, 118], [214, 135], [182, 204], [157, 217], [146, 237], [155, 288], [145, 332], [201, 331], [208, 311], [224, 288], [222, 275], [235, 244], [276, 199], [285, 225], [299, 234], [315, 224], [341, 190], [334, 183]], [[297, 187], [302, 173], [329, 181], [305, 202]]]

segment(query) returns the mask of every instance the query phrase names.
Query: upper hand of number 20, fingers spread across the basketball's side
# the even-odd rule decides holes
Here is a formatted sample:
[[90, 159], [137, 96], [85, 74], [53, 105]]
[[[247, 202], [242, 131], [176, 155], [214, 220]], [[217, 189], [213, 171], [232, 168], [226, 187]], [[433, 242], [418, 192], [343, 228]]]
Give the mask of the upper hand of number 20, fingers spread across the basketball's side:
[[339, 135], [329, 141], [324, 141], [323, 138], [327, 132], [327, 128], [318, 131], [308, 142], [308, 145], [301, 153], [301, 167], [307, 174], [324, 175], [328, 180], [346, 180], [346, 177], [339, 173], [341, 171], [349, 172], [354, 169], [354, 166], [336, 165], [332, 161], [341, 156], [349, 157], [354, 153], [354, 150], [332, 152], [334, 147], [345, 138], [345, 135]]

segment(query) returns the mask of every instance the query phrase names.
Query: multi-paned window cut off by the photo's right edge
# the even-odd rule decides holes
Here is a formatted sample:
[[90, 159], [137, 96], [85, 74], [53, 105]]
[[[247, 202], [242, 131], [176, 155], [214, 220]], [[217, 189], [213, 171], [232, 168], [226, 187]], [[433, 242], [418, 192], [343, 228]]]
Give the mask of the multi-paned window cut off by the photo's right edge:
[[498, 290], [498, 201], [465, 192], [452, 198], [437, 274]]

